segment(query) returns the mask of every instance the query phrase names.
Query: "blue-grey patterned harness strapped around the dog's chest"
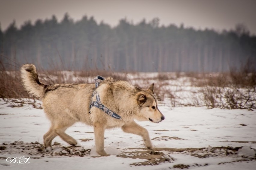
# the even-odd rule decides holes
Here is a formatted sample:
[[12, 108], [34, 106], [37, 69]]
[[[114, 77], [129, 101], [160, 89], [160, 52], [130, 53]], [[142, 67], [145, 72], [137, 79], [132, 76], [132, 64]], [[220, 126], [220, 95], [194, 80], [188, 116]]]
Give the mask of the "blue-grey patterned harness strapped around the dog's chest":
[[[99, 87], [100, 81], [99, 80], [105, 80], [103, 77], [101, 76], [96, 76], [96, 78], [94, 78], [95, 81], [95, 90], [92, 94], [92, 98], [91, 98], [91, 102], [90, 102], [90, 109], [95, 106], [97, 108], [99, 108], [100, 110], [104, 111], [105, 113], [107, 113], [109, 116], [116, 118], [116, 119], [121, 119], [121, 116], [119, 116], [118, 114], [112, 112], [110, 109], [108, 109], [107, 107], [105, 107], [99, 98], [99, 93], [96, 91], [96, 89]], [[93, 101], [93, 96], [96, 95], [96, 101]], [[89, 111], [89, 114], [91, 114], [91, 112]]]

